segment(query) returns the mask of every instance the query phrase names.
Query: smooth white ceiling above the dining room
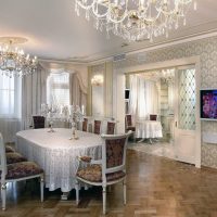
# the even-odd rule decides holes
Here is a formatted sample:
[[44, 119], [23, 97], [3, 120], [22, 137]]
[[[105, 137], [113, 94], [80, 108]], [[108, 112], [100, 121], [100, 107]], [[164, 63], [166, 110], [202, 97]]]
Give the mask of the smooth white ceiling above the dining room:
[[106, 39], [75, 14], [74, 0], [0, 0], [0, 36], [20, 36], [28, 39], [22, 44], [26, 52], [40, 59], [62, 61], [95, 61], [122, 52], [152, 47], [155, 43], [178, 40], [191, 35], [217, 30], [217, 1], [197, 0], [197, 11], [188, 13], [187, 26], [181, 26], [169, 38], [133, 42], [122, 48], [120, 38]]

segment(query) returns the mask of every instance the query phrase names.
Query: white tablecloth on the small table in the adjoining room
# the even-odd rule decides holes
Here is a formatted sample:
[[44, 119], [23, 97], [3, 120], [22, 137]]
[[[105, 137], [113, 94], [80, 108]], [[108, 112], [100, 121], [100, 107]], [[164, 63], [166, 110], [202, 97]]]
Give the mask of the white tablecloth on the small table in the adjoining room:
[[161, 138], [162, 124], [157, 120], [140, 120], [136, 123], [137, 138]]

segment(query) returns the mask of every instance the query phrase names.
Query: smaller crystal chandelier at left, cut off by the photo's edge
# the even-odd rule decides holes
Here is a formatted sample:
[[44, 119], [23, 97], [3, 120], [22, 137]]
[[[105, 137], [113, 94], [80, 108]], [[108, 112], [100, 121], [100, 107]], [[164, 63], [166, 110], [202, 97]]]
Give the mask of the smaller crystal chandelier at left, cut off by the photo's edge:
[[37, 58], [29, 54], [15, 44], [24, 43], [27, 39], [21, 37], [0, 37], [0, 69], [7, 76], [24, 76], [34, 73], [37, 68]]

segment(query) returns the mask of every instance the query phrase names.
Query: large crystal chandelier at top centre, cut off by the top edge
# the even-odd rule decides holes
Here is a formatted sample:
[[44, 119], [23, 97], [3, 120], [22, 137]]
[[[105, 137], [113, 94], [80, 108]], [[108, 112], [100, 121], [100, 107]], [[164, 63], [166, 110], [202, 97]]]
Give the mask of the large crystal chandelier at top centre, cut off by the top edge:
[[136, 41], [165, 35], [177, 29], [180, 21], [186, 25], [186, 14], [191, 3], [196, 10], [196, 0], [75, 0], [77, 15], [80, 9], [86, 18], [94, 18], [97, 29]]

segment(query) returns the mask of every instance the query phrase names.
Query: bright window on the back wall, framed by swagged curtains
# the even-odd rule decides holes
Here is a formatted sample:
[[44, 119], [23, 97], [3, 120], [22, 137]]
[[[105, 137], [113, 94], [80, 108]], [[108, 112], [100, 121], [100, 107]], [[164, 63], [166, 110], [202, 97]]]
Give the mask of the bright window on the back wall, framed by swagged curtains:
[[69, 105], [69, 74], [52, 71], [47, 80], [47, 103]]

